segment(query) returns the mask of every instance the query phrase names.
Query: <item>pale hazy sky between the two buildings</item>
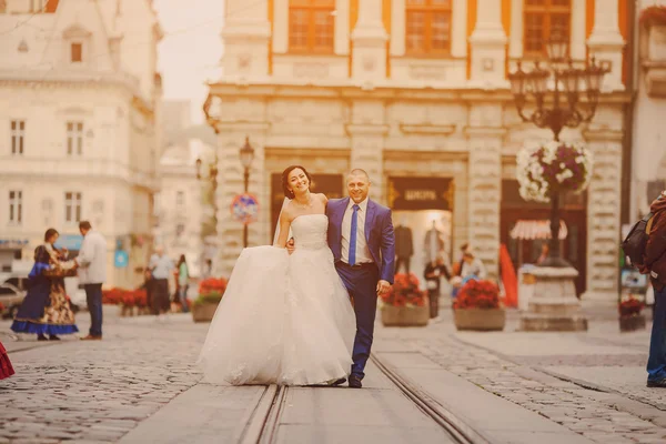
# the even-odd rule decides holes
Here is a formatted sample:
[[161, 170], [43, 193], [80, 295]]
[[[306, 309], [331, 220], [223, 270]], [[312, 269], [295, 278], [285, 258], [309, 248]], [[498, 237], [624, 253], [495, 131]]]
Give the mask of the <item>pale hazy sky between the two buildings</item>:
[[201, 123], [209, 80], [220, 78], [223, 0], [154, 0], [164, 38], [158, 48], [164, 100], [192, 100], [192, 121]]

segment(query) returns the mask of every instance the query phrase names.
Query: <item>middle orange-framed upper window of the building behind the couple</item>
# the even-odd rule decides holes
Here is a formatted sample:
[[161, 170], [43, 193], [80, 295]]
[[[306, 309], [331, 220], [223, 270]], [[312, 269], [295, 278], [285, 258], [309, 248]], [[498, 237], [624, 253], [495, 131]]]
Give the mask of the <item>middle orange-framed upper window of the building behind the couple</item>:
[[451, 52], [451, 0], [407, 0], [406, 51], [411, 54]]

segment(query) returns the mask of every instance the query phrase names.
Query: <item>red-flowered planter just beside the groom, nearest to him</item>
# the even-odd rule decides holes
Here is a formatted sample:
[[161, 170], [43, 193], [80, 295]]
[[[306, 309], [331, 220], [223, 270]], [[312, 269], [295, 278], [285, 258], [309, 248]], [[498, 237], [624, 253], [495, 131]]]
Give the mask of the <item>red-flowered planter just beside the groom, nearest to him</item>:
[[395, 275], [395, 283], [380, 296], [382, 324], [385, 326], [423, 326], [430, 320], [427, 293], [418, 289], [414, 273]]

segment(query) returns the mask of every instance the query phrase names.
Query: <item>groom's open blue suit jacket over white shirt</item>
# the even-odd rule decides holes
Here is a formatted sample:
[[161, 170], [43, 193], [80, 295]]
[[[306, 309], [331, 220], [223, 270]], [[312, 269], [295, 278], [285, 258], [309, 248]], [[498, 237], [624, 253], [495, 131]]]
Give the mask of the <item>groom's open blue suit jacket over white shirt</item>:
[[[329, 216], [329, 246], [335, 262], [342, 258], [342, 219], [350, 204], [350, 198], [331, 199], [326, 205]], [[393, 283], [395, 274], [395, 234], [391, 221], [391, 210], [369, 200], [365, 216], [365, 242], [374, 263], [380, 270], [380, 279]]]

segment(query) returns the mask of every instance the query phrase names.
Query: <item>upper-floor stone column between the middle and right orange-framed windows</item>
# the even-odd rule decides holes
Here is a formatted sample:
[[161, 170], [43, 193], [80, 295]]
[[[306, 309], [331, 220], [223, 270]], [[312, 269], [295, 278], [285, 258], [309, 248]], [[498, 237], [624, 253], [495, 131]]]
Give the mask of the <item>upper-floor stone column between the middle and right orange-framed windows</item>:
[[477, 0], [476, 26], [472, 37], [472, 83], [480, 87], [507, 87], [504, 79], [506, 34], [502, 27], [502, 2]]

